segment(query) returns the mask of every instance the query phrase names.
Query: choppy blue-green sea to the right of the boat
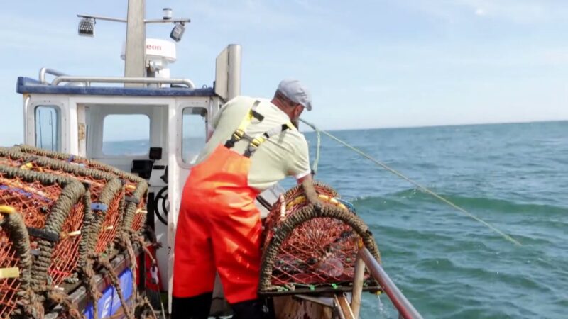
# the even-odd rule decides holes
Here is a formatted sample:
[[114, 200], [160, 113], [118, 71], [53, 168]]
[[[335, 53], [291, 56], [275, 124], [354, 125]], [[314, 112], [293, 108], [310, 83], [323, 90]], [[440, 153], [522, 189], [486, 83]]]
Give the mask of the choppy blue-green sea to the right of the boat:
[[[568, 122], [332, 133], [522, 243], [322, 135], [316, 178], [354, 203], [424, 318], [568, 318]], [[398, 313], [366, 294], [362, 318]]]

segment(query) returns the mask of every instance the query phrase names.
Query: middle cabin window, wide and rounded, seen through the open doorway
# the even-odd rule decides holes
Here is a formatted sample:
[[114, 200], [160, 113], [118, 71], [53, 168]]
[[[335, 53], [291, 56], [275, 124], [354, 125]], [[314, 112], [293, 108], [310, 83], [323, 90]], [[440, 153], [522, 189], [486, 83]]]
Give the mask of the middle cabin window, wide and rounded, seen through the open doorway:
[[150, 118], [146, 114], [110, 114], [102, 124], [102, 152], [108, 156], [142, 156], [150, 150]]

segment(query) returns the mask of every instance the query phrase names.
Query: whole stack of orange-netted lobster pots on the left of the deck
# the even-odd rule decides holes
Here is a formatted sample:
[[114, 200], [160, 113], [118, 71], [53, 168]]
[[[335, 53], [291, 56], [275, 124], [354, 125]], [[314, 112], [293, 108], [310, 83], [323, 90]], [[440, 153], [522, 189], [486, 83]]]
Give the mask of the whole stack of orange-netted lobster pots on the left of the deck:
[[[134, 247], [146, 247], [146, 181], [105, 164], [28, 146], [0, 148], [0, 319], [83, 318], [68, 297], [106, 269], [123, 306], [119, 279], [109, 261], [125, 254], [136, 274]], [[133, 318], [136, 294], [123, 307]], [[136, 302], [136, 304], [134, 304]], [[98, 318], [97, 302], [92, 302]], [[136, 309], [135, 309], [136, 310]]]

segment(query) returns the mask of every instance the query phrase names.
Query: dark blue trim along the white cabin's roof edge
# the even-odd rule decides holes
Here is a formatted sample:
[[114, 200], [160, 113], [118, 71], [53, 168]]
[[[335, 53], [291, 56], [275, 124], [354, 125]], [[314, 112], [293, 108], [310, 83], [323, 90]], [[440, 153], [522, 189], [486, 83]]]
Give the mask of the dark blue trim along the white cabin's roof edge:
[[19, 94], [69, 94], [102, 96], [217, 96], [212, 87], [188, 89], [185, 87], [122, 87], [122, 86], [66, 86], [43, 84], [29, 77], [18, 77]]

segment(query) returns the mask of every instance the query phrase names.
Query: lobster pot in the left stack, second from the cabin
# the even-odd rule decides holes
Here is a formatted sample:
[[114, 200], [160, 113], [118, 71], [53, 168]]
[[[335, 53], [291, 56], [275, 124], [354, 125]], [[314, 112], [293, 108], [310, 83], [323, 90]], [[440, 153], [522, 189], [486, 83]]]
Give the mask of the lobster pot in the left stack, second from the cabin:
[[69, 177], [88, 185], [93, 223], [86, 249], [111, 252], [124, 216], [124, 186], [113, 174], [89, 169], [60, 159], [41, 157], [0, 147], [0, 163], [32, 172]]

